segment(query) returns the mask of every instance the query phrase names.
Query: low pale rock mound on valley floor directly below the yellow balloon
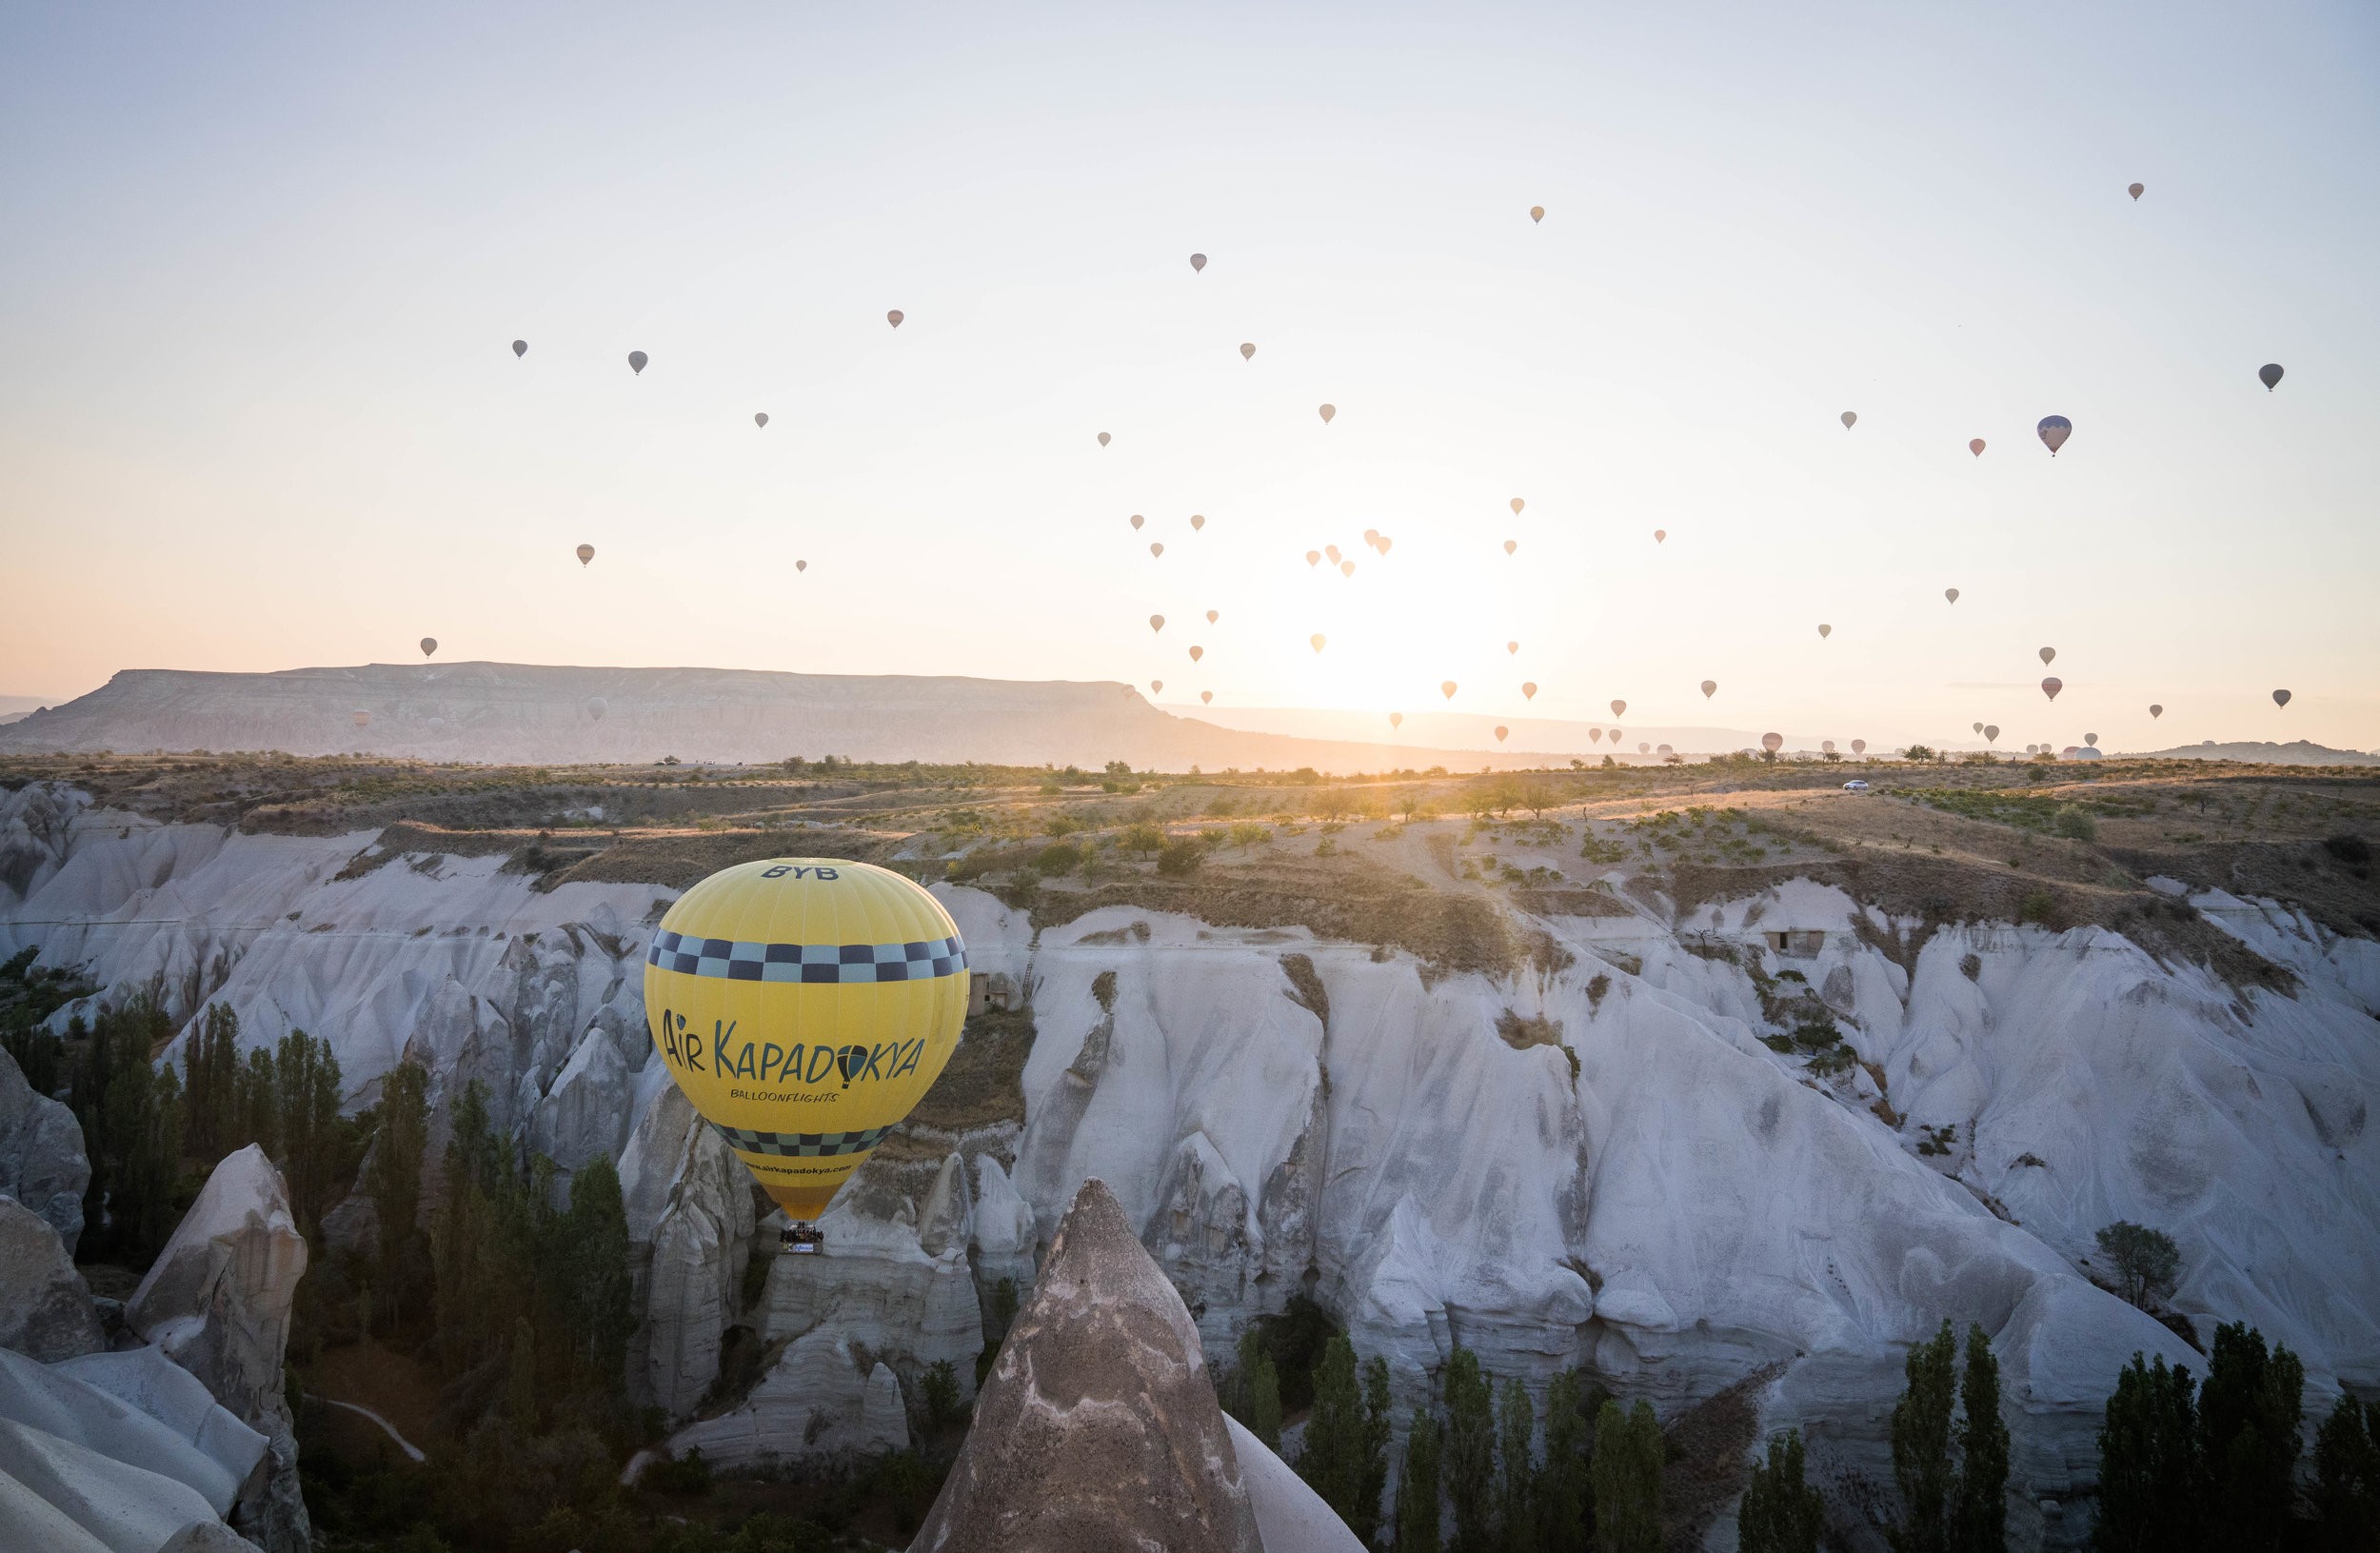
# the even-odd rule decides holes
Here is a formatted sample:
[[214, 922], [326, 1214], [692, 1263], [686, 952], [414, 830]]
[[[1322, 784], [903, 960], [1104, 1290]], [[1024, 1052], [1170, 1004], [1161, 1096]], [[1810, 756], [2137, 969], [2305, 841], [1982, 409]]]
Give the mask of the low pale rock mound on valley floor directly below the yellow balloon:
[[823, 1329], [788, 1346], [740, 1405], [669, 1439], [671, 1455], [702, 1451], [719, 1467], [907, 1448], [900, 1379], [883, 1360], [862, 1370], [850, 1339]]

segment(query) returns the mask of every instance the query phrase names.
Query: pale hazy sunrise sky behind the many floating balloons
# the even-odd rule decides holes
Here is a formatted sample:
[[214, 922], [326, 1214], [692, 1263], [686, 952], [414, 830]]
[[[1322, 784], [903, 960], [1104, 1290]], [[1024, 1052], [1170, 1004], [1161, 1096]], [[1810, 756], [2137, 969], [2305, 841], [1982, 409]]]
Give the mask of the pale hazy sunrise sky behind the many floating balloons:
[[2363, 0], [74, 5], [0, 83], [0, 693], [436, 636], [2380, 746]]

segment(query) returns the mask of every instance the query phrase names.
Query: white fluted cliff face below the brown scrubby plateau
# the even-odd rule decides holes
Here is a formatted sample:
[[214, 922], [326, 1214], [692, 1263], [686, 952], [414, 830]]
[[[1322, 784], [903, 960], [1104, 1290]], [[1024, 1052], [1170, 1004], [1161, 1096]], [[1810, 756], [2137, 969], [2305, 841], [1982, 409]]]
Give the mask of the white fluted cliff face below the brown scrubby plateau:
[[[1399, 1417], [1457, 1343], [1530, 1384], [1590, 1365], [1664, 1410], [1771, 1374], [1764, 1427], [1802, 1424], [1856, 1489], [1890, 1482], [1906, 1343], [1980, 1322], [2021, 1546], [2085, 1532], [2042, 1501], [2087, 1484], [2130, 1353], [2199, 1367], [2092, 1286], [2111, 1220], [2180, 1241], [2173, 1305], [2202, 1334], [2256, 1322], [2320, 1405], [2380, 1386], [2380, 946], [2221, 891], [2192, 903], [2294, 993], [2106, 929], [1940, 927], [1809, 881], [1530, 917], [1545, 948], [1509, 972], [1130, 908], [1038, 929], [942, 888], [976, 969], [1031, 988], [1023, 1115], [912, 1129], [835, 1205], [831, 1255], [771, 1265], [747, 1308], [766, 1229], [643, 1041], [671, 891], [540, 893], [495, 857], [350, 869], [369, 834], [157, 827], [43, 786], [0, 796], [0, 955], [40, 943], [183, 1015], [231, 1000], [250, 1041], [331, 1034], [357, 1100], [414, 1053], [440, 1096], [488, 1079], [564, 1165], [616, 1150], [635, 1384], [685, 1415], [731, 1327], [783, 1343], [681, 1436], [712, 1455], [897, 1439], [919, 1374], [950, 1358], [964, 1382], [997, 1339], [997, 1281], [1031, 1301], [1088, 1177], [1209, 1358], [1311, 1293], [1390, 1358]], [[1859, 1062], [1766, 1043], [1821, 1019]]]

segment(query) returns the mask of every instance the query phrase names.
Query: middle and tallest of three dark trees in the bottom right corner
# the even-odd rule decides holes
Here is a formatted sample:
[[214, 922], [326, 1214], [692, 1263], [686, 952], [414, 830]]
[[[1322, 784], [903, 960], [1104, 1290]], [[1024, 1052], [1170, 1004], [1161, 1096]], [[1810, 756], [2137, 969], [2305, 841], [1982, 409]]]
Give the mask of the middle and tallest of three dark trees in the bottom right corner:
[[2216, 1546], [2263, 1553], [2290, 1536], [2304, 1391], [2306, 1367], [2294, 1353], [2266, 1353], [2263, 1334], [2244, 1322], [2216, 1327], [2199, 1386], [2199, 1462]]

